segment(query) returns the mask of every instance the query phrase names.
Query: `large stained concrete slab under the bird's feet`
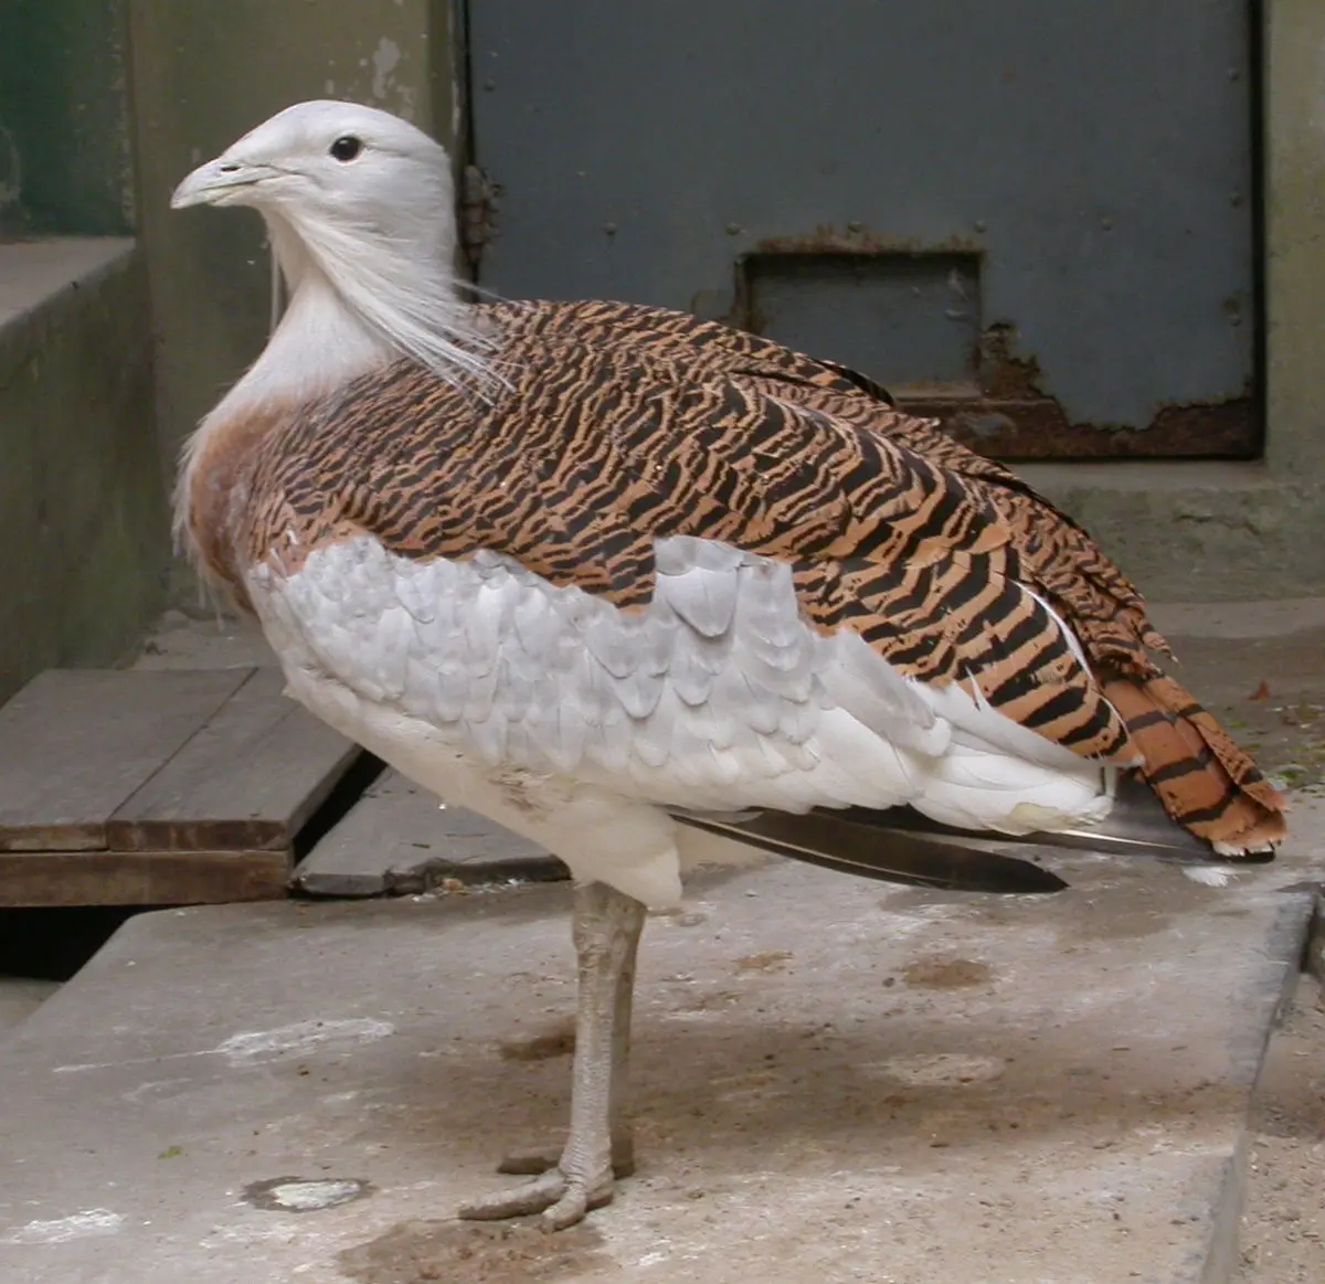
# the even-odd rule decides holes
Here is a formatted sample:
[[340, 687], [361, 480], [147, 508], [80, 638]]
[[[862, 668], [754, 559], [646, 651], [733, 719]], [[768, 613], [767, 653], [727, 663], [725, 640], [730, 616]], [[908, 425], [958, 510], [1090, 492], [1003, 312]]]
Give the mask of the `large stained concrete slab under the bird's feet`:
[[641, 1170], [553, 1239], [450, 1215], [564, 1124], [566, 886], [138, 917], [0, 1044], [0, 1277], [1218, 1284], [1320, 868], [1059, 868], [698, 880], [645, 936]]

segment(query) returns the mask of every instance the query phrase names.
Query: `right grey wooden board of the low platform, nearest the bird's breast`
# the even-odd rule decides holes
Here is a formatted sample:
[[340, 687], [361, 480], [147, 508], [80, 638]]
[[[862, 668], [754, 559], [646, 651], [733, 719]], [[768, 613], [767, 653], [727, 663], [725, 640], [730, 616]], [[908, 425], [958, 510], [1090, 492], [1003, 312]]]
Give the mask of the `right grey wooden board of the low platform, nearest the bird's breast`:
[[362, 750], [260, 669], [127, 799], [113, 851], [285, 851]]

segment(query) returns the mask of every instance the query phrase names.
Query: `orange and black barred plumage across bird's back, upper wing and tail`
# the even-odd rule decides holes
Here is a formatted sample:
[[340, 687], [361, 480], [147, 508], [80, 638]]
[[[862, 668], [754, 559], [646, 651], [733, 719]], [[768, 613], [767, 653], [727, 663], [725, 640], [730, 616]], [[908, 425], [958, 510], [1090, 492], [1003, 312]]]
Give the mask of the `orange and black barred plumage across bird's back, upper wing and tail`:
[[490, 400], [398, 363], [266, 432], [237, 488], [261, 502], [232, 514], [249, 558], [292, 529], [303, 549], [368, 530], [411, 558], [505, 553], [631, 610], [656, 538], [731, 543], [788, 562], [814, 625], [851, 627], [904, 674], [974, 684], [1083, 757], [1141, 759], [1200, 837], [1283, 836], [1279, 795], [1150, 657], [1165, 644], [1136, 588], [1002, 465], [869, 380], [721, 325], [600, 302], [482, 311], [509, 380]]

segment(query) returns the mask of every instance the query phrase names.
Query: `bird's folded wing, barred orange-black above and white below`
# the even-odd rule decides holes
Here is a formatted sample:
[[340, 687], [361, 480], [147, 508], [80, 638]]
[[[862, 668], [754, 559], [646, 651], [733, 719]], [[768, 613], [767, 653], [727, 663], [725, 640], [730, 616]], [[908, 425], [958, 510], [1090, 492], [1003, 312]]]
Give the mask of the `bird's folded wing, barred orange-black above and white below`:
[[1101, 814], [1136, 751], [987, 497], [717, 350], [629, 342], [648, 318], [511, 305], [494, 403], [400, 363], [294, 413], [236, 514], [260, 610], [494, 765], [689, 807]]

